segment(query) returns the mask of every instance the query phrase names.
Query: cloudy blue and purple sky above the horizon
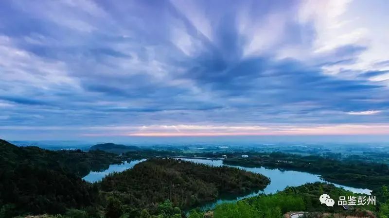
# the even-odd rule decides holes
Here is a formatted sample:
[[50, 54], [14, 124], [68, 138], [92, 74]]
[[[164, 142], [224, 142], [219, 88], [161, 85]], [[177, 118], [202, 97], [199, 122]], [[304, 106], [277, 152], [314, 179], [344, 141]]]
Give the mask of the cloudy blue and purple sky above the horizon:
[[0, 137], [388, 136], [388, 10], [0, 1]]

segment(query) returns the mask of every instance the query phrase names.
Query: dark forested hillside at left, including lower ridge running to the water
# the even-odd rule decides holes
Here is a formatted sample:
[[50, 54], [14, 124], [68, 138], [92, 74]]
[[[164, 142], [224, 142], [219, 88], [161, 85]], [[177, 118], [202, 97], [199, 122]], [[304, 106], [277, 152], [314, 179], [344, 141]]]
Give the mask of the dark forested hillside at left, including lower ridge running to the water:
[[0, 139], [0, 212], [63, 213], [91, 205], [98, 189], [81, 178], [113, 163], [121, 160], [104, 151], [49, 151]]

